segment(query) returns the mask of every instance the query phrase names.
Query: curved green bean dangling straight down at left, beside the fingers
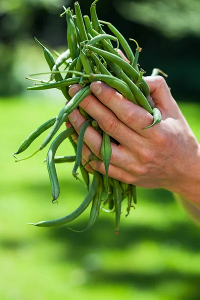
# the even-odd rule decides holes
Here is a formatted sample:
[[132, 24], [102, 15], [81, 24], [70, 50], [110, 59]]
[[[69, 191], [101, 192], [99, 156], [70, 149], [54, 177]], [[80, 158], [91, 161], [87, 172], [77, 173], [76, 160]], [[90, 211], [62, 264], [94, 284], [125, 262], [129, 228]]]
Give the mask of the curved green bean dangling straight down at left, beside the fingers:
[[64, 139], [66, 139], [69, 135], [75, 133], [75, 129], [70, 127], [64, 131], [62, 131], [51, 143], [47, 155], [46, 155], [46, 166], [48, 170], [48, 175], [51, 184], [51, 192], [53, 200], [57, 199], [59, 196], [59, 183], [57, 179], [57, 173], [54, 164], [54, 156], [58, 146], [62, 143]]

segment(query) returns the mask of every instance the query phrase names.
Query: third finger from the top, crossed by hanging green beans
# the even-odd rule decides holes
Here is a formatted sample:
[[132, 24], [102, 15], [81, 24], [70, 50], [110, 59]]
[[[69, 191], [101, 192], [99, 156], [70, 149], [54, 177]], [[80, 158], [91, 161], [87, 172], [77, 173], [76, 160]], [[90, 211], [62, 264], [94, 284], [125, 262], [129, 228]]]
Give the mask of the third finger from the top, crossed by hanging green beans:
[[[88, 97], [87, 97], [88, 98]], [[97, 99], [96, 99], [97, 101]], [[97, 101], [99, 102], [99, 101]], [[102, 104], [101, 104], [102, 105]], [[79, 113], [78, 109], [73, 110], [68, 116], [69, 121], [73, 125], [77, 133], [80, 132], [82, 124], [85, 122], [85, 118]], [[97, 157], [101, 158], [100, 148], [102, 144], [102, 136], [98, 133], [92, 126], [87, 127], [84, 133], [84, 142], [89, 147], [89, 149]], [[117, 146], [115, 143], [111, 142], [112, 154], [110, 158], [110, 163], [118, 165], [121, 160], [125, 159], [126, 152], [122, 146]], [[85, 157], [85, 156], [84, 156]]]

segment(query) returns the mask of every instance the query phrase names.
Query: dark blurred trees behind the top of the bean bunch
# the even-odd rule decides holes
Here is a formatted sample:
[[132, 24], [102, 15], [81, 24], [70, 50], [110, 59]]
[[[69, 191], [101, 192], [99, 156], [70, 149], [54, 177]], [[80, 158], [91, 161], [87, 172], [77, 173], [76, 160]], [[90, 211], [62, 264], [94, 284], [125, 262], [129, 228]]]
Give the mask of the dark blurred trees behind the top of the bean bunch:
[[[33, 44], [36, 36], [52, 48], [66, 47], [65, 19], [59, 14], [62, 4], [72, 7], [73, 2], [0, 0], [1, 95], [19, 94], [24, 89], [13, 72], [21, 43]], [[79, 0], [83, 14], [89, 14], [91, 2]], [[139, 62], [146, 74], [159, 67], [168, 73], [167, 83], [176, 98], [198, 100], [199, 0], [99, 0], [96, 10], [99, 19], [112, 22], [126, 39], [138, 41], [142, 47]], [[131, 46], [134, 50], [134, 43]]]

